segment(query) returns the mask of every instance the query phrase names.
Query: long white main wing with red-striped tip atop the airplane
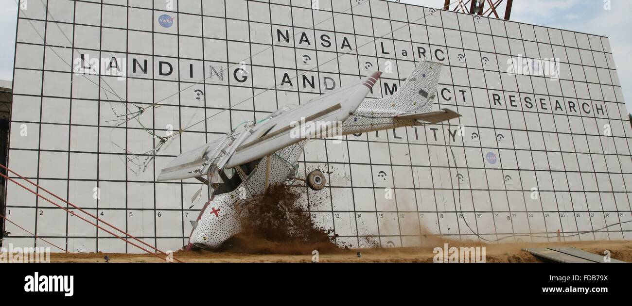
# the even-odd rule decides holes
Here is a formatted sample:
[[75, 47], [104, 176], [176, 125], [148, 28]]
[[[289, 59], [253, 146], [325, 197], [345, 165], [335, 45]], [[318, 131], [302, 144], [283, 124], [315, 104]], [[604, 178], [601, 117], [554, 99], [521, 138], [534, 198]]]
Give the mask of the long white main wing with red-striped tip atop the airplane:
[[182, 153], [162, 169], [157, 180], [191, 179], [207, 175], [211, 167], [222, 169], [243, 165], [308, 138], [300, 133], [296, 137], [297, 133], [293, 131], [310, 122], [341, 123], [355, 112], [381, 74], [376, 72], [354, 85], [327, 93], [295, 109], [284, 107], [270, 115], [267, 121], [254, 126], [246, 124], [243, 131]]

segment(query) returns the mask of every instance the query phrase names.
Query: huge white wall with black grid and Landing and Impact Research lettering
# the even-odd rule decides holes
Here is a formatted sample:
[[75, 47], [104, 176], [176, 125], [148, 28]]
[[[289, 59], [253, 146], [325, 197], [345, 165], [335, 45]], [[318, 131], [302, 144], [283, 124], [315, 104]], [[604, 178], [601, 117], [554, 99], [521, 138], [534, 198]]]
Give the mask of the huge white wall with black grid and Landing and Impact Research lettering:
[[[9, 168], [159, 249], [186, 244], [207, 198], [191, 203], [197, 180], [155, 182], [179, 153], [376, 69], [370, 97], [390, 95], [422, 59], [444, 63], [435, 109], [463, 117], [305, 148], [300, 176], [331, 174], [302, 201], [338, 242], [632, 238], [632, 131], [605, 37], [382, 0], [31, 0], [16, 40]], [[507, 74], [518, 56], [559, 59], [559, 79]], [[91, 58], [126, 78], [78, 73]], [[140, 251], [11, 182], [5, 214], [70, 252]]]

